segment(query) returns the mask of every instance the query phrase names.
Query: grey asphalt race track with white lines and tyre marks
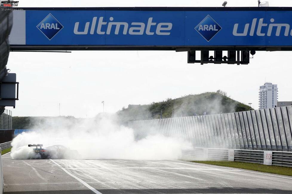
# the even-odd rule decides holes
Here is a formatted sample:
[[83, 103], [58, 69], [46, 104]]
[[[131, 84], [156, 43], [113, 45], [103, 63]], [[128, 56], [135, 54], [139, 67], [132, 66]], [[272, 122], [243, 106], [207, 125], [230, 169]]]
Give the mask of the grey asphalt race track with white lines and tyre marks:
[[176, 160], [2, 162], [6, 194], [292, 193], [292, 177]]

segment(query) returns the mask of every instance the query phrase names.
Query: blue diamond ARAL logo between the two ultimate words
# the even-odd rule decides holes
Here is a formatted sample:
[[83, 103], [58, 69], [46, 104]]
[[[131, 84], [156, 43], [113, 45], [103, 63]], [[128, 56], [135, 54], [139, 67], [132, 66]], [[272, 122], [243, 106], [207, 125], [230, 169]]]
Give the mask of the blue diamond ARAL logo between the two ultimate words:
[[195, 29], [209, 42], [222, 28], [210, 17], [210, 15], [207, 15]]

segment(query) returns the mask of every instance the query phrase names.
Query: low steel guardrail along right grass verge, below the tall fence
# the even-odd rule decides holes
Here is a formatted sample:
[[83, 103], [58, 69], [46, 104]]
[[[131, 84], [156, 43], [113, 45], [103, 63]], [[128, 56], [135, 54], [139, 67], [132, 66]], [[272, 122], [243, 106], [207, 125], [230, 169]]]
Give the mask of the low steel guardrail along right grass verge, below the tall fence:
[[[208, 156], [205, 156], [204, 148], [184, 148], [182, 149], [182, 159], [224, 161], [228, 160], [228, 149], [208, 148]], [[264, 151], [234, 149], [234, 161], [263, 164]], [[292, 152], [273, 151], [272, 165], [292, 167]]]

